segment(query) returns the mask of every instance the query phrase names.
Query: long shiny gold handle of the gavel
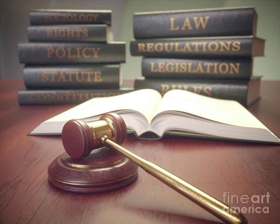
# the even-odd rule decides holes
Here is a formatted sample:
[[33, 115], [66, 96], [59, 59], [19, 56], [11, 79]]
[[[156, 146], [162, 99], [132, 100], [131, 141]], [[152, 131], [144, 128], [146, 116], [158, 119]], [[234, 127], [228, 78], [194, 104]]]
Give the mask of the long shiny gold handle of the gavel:
[[215, 198], [212, 198], [210, 195], [195, 188], [179, 177], [171, 174], [167, 170], [162, 169], [156, 164], [149, 162], [112, 142], [108, 139], [108, 136], [102, 136], [101, 143], [121, 153], [122, 155], [136, 163], [138, 166], [140, 166], [147, 173], [151, 174], [164, 184], [184, 195], [186, 198], [189, 198], [191, 201], [206, 209], [208, 212], [212, 213], [222, 221], [231, 224], [247, 223], [247, 219], [242, 214], [236, 212], [234, 209], [229, 208], [227, 205], [223, 204]]

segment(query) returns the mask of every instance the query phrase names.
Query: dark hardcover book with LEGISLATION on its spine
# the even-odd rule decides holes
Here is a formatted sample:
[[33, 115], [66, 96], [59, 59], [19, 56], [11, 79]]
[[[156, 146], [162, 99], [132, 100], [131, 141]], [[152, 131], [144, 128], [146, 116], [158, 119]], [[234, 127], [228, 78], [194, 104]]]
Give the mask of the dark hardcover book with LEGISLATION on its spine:
[[252, 58], [142, 58], [147, 78], [250, 79]]

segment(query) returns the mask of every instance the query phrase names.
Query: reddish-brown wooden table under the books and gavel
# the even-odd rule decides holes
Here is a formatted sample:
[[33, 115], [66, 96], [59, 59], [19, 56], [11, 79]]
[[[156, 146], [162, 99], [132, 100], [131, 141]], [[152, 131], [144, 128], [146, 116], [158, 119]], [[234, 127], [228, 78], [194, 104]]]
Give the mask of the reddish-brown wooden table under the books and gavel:
[[[220, 223], [216, 217], [139, 168], [126, 188], [73, 194], [52, 187], [47, 168], [63, 153], [59, 136], [26, 136], [41, 122], [74, 105], [22, 105], [22, 80], [0, 81], [0, 223]], [[262, 81], [262, 99], [249, 110], [280, 135], [280, 81]], [[129, 137], [124, 147], [244, 213], [249, 223], [279, 223], [280, 147], [233, 141]], [[267, 195], [263, 203], [240, 197]], [[231, 201], [231, 195], [233, 199]], [[237, 199], [238, 198], [238, 202]], [[257, 198], [253, 198], [256, 200]], [[243, 202], [246, 200], [243, 199]], [[269, 213], [267, 208], [269, 208]]]

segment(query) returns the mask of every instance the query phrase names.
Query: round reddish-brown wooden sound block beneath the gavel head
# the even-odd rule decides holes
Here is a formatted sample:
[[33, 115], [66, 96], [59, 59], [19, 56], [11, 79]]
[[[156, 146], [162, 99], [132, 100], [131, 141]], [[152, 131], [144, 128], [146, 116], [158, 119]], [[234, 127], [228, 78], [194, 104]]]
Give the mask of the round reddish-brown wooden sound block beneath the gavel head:
[[82, 159], [66, 152], [48, 167], [49, 183], [75, 193], [101, 193], [123, 188], [136, 180], [138, 166], [118, 152], [103, 147]]

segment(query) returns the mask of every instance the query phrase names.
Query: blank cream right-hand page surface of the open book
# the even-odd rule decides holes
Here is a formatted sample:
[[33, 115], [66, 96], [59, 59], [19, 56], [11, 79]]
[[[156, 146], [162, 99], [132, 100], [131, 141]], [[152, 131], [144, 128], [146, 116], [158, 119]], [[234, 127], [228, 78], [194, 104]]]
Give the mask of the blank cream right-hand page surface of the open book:
[[168, 110], [182, 111], [224, 124], [267, 129], [234, 100], [215, 99], [185, 90], [171, 90], [163, 96], [156, 114]]

